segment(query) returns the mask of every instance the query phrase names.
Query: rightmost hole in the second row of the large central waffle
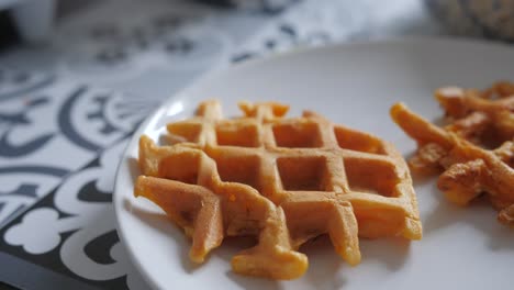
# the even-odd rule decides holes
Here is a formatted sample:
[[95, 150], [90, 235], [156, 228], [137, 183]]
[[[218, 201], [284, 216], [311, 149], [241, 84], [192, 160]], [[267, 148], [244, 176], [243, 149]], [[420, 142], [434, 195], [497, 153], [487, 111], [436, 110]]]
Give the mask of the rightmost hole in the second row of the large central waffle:
[[379, 159], [346, 158], [346, 177], [351, 191], [394, 197], [400, 178], [394, 165]]

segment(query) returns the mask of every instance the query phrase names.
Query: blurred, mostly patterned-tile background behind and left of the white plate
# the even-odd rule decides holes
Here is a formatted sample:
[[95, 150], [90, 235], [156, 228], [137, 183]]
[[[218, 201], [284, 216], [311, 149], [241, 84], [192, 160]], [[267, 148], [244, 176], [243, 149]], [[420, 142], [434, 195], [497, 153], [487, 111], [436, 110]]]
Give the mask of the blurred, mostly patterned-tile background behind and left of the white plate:
[[114, 172], [137, 124], [203, 74], [356, 41], [510, 45], [513, 15], [514, 0], [0, 0], [0, 288], [148, 288], [116, 234]]

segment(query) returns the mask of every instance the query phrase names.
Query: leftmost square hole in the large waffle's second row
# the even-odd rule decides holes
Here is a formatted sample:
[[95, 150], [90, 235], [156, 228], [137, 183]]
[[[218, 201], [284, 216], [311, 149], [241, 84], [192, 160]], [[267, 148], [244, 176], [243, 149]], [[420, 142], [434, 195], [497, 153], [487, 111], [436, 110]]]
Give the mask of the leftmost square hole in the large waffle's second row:
[[167, 179], [197, 185], [200, 155], [180, 153], [164, 158], [159, 163], [159, 176]]

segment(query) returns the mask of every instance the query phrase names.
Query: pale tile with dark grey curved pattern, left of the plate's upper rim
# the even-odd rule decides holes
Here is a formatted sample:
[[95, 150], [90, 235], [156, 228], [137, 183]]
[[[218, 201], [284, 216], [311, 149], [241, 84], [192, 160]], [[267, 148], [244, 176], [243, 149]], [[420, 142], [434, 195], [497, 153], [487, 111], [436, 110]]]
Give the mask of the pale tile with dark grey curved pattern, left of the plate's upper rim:
[[25, 78], [0, 86], [0, 224], [130, 134], [157, 104], [49, 76]]

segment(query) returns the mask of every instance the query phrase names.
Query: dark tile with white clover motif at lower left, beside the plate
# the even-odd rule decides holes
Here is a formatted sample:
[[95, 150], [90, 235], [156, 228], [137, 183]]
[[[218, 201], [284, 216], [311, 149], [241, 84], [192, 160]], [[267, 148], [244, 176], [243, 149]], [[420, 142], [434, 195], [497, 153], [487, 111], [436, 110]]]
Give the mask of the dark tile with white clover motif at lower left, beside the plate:
[[[25, 288], [55, 289], [59, 281], [72, 288], [147, 288], [120, 244], [111, 204], [125, 145], [123, 140], [104, 150], [0, 231], [0, 264], [16, 265]], [[35, 275], [46, 271], [57, 275]], [[0, 279], [20, 287], [18, 277]]]

